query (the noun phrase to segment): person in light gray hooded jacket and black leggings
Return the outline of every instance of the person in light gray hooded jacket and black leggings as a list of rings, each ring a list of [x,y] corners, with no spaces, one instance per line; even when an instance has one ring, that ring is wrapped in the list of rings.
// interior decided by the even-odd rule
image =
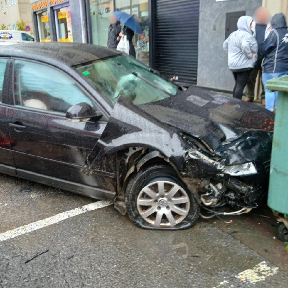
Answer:
[[[242,99],[243,90],[250,73],[258,59],[258,44],[252,36],[253,18],[242,16],[237,22],[238,30],[231,33],[223,43],[223,49],[228,52],[229,69],[233,72],[235,86],[233,97]]]

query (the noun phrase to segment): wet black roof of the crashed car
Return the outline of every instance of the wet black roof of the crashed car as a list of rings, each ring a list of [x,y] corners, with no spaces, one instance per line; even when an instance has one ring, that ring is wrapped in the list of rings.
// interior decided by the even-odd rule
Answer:
[[[69,66],[120,55],[116,49],[92,44],[65,42],[20,43],[2,46],[0,57],[21,57],[55,64],[59,61]]]

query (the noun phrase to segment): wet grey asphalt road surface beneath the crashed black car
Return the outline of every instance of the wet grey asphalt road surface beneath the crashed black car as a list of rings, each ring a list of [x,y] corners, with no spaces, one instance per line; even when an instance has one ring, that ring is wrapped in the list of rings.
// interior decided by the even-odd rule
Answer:
[[[93,202],[0,174],[0,233]],[[287,288],[288,253],[273,238],[276,219],[267,207],[253,212],[223,218],[232,223],[199,219],[188,230],[150,231],[113,206],[89,211],[0,242],[0,287]],[[263,261],[277,272],[254,283],[238,277]]]

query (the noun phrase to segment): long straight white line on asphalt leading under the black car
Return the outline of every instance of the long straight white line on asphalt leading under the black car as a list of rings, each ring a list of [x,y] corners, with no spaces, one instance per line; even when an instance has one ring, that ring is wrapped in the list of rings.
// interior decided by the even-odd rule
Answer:
[[[30,223],[28,225],[18,227],[16,229],[6,231],[6,232],[0,234],[0,242],[14,238],[14,237],[19,236],[19,235],[29,233],[29,232],[37,230],[37,229],[41,229],[43,227],[55,224],[57,222],[60,222],[62,220],[74,217],[74,216],[82,214],[82,213],[85,213],[87,211],[99,209],[99,208],[102,208],[102,207],[105,207],[105,206],[108,206],[111,204],[112,204],[111,201],[103,201],[103,200],[97,201],[97,202],[94,202],[94,203],[91,203],[88,205],[84,205],[84,206],[82,206],[82,208],[78,207],[76,209],[62,212],[62,213],[59,213],[57,215],[48,217],[46,219],[39,220],[39,221]]]

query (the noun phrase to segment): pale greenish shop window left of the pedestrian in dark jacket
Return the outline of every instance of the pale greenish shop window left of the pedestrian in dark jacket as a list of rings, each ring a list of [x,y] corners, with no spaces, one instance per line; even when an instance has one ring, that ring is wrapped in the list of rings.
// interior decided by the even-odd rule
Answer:
[[[130,1],[130,0],[129,0]],[[92,43],[107,46],[109,16],[114,11],[112,0],[89,0]]]

